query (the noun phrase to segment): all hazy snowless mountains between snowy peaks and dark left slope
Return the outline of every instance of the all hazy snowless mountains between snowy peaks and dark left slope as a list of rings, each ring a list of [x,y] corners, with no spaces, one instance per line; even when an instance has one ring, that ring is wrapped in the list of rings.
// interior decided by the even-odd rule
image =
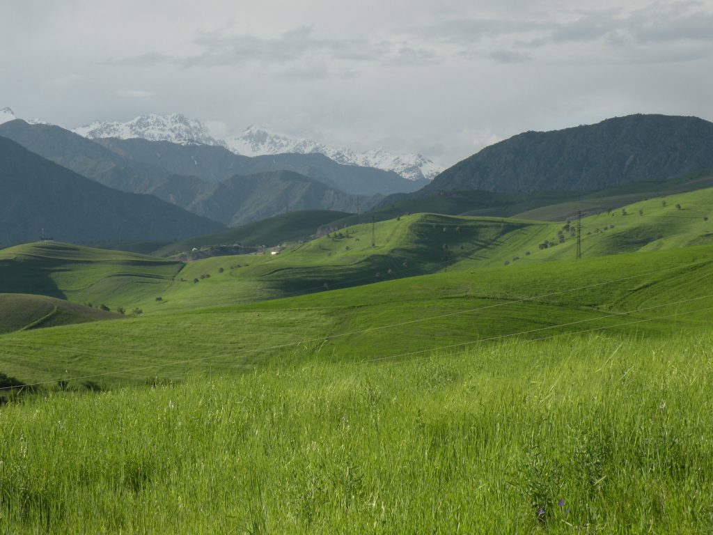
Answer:
[[[0,125],[0,136],[111,188],[150,193],[227,225],[292,210],[364,211],[381,199],[380,195],[344,193],[326,183],[332,175],[337,181],[363,179],[366,185],[374,173],[407,182],[396,173],[339,165],[321,154],[248,158],[201,144],[116,138],[91,141],[58,126],[21,120]]]

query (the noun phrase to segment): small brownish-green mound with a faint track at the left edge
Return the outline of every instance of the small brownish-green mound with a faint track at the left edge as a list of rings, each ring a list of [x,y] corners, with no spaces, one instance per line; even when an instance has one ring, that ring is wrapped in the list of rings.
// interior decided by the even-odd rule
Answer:
[[[118,317],[118,314],[44,295],[0,294],[0,334]]]

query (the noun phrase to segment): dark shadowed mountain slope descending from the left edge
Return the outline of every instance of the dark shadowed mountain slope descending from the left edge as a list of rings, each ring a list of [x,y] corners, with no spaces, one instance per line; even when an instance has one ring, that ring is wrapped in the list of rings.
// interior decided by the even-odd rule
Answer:
[[[113,190],[0,137],[0,242],[186,238],[220,223],[152,195]]]

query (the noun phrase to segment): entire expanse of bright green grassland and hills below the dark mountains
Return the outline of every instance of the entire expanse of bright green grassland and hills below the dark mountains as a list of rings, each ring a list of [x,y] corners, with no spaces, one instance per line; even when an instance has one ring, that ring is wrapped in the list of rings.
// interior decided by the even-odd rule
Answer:
[[[712,201],[0,250],[0,532],[707,533]]]

